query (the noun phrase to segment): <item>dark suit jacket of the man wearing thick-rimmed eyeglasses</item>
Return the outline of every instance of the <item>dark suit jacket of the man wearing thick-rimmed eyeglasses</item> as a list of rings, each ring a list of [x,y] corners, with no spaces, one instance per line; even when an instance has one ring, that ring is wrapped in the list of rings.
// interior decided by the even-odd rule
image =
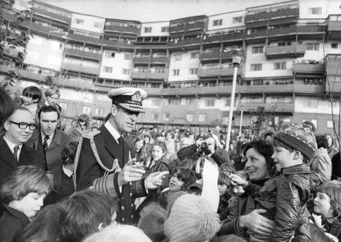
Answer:
[[[43,157],[33,148],[23,144],[21,153],[19,155],[18,163],[14,159],[13,153],[7,145],[4,137],[0,138],[0,187],[4,184],[5,180],[14,168],[20,165],[37,165],[40,168],[44,167]]]

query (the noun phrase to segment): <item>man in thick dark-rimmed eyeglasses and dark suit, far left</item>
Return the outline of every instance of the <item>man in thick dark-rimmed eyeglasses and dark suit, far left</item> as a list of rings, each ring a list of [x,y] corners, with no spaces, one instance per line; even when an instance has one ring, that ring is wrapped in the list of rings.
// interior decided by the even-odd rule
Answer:
[[[43,168],[43,157],[26,145],[36,124],[31,112],[18,107],[4,123],[5,135],[0,137],[0,187],[14,168],[37,165]]]

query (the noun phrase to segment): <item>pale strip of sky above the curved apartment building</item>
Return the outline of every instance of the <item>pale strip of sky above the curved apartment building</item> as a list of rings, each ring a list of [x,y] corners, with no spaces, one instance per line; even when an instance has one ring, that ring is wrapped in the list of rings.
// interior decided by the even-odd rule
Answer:
[[[197,15],[214,15],[274,4],[281,0],[40,0],[45,3],[103,18],[141,22],[170,21]]]

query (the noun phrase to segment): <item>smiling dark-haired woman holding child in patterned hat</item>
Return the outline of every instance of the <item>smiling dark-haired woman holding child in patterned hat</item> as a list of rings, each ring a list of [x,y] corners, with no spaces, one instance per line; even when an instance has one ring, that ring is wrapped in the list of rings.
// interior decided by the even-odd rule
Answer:
[[[249,182],[262,187],[264,182],[276,173],[276,167],[271,155],[274,148],[264,141],[252,141],[245,145],[243,154],[247,159],[245,170]],[[237,233],[239,236],[249,237],[246,233],[269,236],[274,229],[274,221],[261,216],[266,211],[255,209],[254,199],[251,198],[252,191],[237,197],[231,205],[227,219],[222,225],[221,235]]]

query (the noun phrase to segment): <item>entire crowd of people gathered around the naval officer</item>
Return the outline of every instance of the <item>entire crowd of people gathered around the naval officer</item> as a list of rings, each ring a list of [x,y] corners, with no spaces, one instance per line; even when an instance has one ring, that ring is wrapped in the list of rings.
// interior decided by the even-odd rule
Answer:
[[[59,97],[0,88],[0,241],[341,240],[340,151],[313,123],[229,144],[219,130],[133,136],[144,90],[109,92],[101,127],[60,126]]]

